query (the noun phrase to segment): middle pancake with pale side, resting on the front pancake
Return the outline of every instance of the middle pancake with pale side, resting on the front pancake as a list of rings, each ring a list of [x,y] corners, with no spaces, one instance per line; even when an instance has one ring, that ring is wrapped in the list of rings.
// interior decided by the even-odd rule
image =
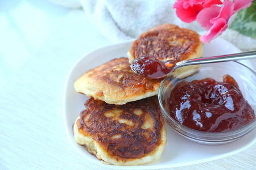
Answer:
[[[108,104],[125,104],[157,95],[160,80],[133,73],[128,60],[127,57],[115,58],[86,71],[76,80],[75,90]]]

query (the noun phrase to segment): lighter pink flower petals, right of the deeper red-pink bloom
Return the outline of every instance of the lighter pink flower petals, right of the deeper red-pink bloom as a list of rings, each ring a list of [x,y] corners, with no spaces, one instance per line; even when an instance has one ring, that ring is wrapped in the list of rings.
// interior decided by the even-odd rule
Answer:
[[[223,5],[204,8],[197,15],[196,21],[207,32],[200,37],[203,43],[220,36],[228,28],[229,18],[242,8],[249,7],[253,0],[224,0]]]

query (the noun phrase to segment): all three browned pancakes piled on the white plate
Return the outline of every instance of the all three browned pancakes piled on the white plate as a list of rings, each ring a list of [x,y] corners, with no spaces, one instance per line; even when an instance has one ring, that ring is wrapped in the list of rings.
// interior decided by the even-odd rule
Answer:
[[[130,63],[144,54],[179,62],[202,53],[196,32],[164,24],[142,33],[128,57],[86,71],[75,82],[76,91],[90,97],[73,126],[75,141],[106,164],[140,165],[159,160],[166,146],[156,96],[160,80],[133,73]]]

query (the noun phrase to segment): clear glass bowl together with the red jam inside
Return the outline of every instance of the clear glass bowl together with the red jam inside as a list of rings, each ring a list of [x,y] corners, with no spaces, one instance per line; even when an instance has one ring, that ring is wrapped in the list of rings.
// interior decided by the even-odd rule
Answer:
[[[256,73],[239,62],[204,64],[168,75],[159,88],[164,120],[192,141],[236,141],[256,126]]]

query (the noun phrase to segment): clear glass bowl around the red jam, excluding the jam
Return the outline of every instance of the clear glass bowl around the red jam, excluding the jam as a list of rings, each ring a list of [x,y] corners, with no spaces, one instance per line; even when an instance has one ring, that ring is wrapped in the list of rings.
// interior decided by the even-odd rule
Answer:
[[[189,66],[186,66],[189,67]],[[175,70],[176,71],[176,70]],[[174,73],[175,73],[174,71]],[[256,111],[256,73],[249,67],[239,62],[221,62],[197,65],[187,71],[178,71],[179,74],[170,74],[164,79],[159,88],[158,98],[160,109],[163,114],[164,120],[171,126],[177,133],[183,135],[183,137],[190,139],[197,143],[203,143],[207,145],[219,145],[236,141],[246,135],[256,126],[256,118],[249,124],[242,126],[240,129],[227,131],[227,132],[204,132],[194,130],[181,125],[168,113],[168,93],[173,87],[182,80],[191,82],[192,80],[201,80],[204,78],[212,78],[218,82],[223,82],[222,76],[229,74],[232,76],[240,90],[243,97],[248,101],[251,107]]]

